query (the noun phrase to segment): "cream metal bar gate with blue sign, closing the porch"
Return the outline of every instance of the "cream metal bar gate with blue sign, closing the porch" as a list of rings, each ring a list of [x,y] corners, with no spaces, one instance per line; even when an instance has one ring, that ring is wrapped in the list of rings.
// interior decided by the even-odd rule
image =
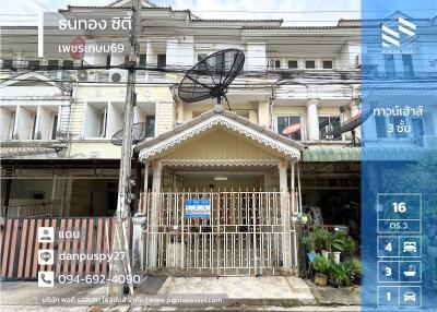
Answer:
[[[296,259],[288,193],[149,193],[144,200],[149,272],[274,275],[284,273],[284,255]],[[210,217],[187,218],[187,200],[208,200]]]

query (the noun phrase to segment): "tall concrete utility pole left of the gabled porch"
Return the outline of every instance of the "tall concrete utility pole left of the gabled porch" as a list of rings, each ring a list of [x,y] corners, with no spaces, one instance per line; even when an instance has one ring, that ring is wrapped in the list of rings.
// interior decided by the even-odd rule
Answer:
[[[130,264],[129,243],[127,238],[127,223],[130,217],[131,202],[131,161],[132,161],[132,122],[133,107],[137,101],[135,94],[135,67],[140,56],[140,19],[141,19],[141,0],[137,0],[135,7],[132,9],[132,28],[130,36],[131,51],[129,62],[126,64],[128,69],[128,82],[126,91],[126,107],[123,120],[123,137],[121,144],[120,173],[118,181],[118,201],[116,215],[116,230],[113,238],[113,253],[125,252],[125,259],[113,260],[110,263],[109,278],[119,280],[119,276],[132,274]],[[113,257],[114,259],[114,257]],[[123,278],[126,280],[126,278]],[[121,298],[123,296],[125,285],[109,280],[107,295],[109,297]],[[132,293],[133,287],[130,285]]]

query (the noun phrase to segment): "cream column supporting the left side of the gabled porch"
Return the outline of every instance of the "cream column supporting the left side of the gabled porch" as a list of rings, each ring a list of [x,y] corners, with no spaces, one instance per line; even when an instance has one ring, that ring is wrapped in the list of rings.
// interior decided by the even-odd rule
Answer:
[[[157,226],[160,209],[160,193],[163,166],[161,161],[153,163],[152,208],[149,215],[149,267],[156,267],[157,262]]]

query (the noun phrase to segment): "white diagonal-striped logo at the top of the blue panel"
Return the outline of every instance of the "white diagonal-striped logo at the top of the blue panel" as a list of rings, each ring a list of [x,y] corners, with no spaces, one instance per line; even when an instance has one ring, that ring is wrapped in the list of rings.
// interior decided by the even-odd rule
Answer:
[[[416,25],[405,19],[398,17],[398,20],[390,21],[382,25],[382,47],[408,45],[416,36],[415,31]]]

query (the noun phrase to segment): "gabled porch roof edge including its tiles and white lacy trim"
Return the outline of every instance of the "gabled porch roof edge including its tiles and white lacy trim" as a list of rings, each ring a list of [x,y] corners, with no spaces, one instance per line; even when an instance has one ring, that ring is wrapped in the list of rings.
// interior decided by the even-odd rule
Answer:
[[[277,155],[277,158],[297,161],[300,160],[304,149],[303,144],[255,124],[234,112],[209,111],[172,131],[144,141],[135,147],[135,152],[139,153],[143,163],[154,160],[161,155],[185,145],[187,141],[213,130],[224,130],[238,135],[241,137],[241,142],[249,142],[257,147],[262,147],[269,153]],[[223,158],[223,160],[225,159],[226,157]]]

